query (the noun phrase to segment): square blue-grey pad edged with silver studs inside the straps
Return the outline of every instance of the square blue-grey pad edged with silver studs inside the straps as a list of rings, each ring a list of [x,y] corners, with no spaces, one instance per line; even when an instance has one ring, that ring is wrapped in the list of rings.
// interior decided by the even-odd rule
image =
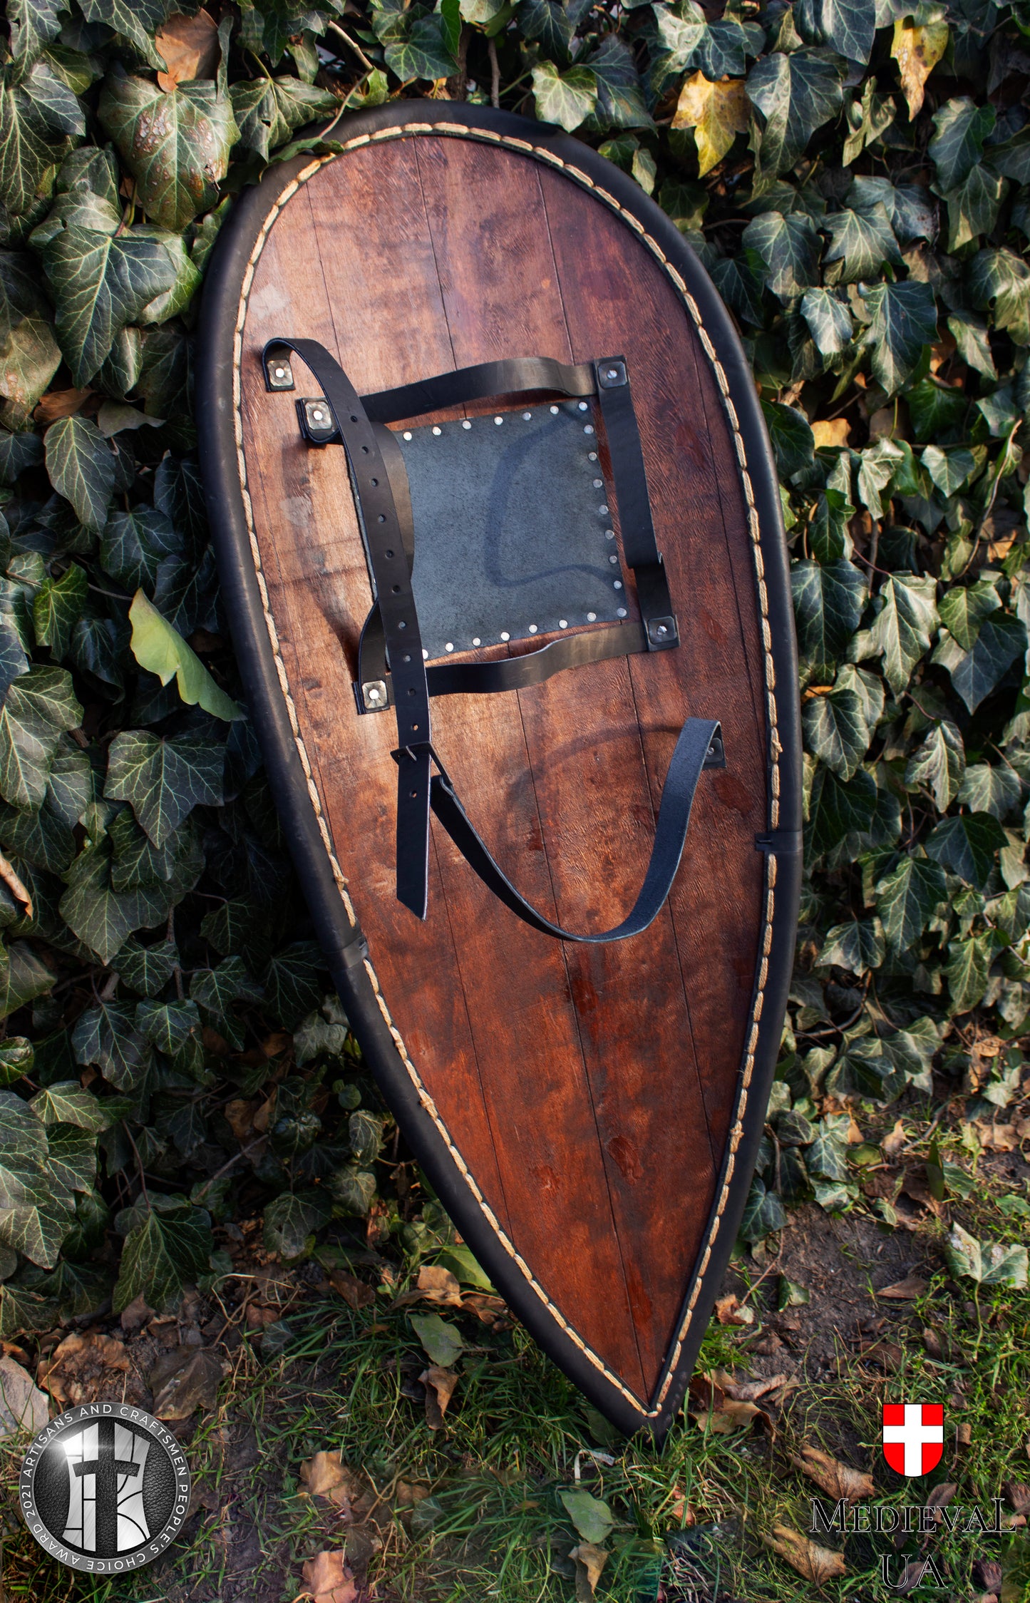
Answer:
[[[626,616],[586,401],[396,434],[428,657]]]

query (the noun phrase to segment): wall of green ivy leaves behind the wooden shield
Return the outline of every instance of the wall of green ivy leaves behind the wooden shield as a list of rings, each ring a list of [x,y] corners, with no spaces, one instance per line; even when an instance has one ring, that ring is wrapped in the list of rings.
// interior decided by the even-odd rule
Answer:
[[[716,13],[8,0],[0,1334],[106,1297],[168,1306],[224,1266],[216,1231],[237,1217],[263,1213],[266,1249],[295,1258],[384,1193],[376,1217],[408,1250],[447,1239],[436,1204],[413,1215],[392,1193],[389,1124],[325,995],[226,643],[191,396],[234,194],[397,95],[493,101],[596,144],[700,255],[754,369],[793,556],[807,829],[745,1238],[785,1204],[855,1205],[849,1106],[926,1096],[934,1074],[960,1090],[977,1036],[1003,1050],[964,1087],[974,1112],[1016,1095],[1030,10]]]

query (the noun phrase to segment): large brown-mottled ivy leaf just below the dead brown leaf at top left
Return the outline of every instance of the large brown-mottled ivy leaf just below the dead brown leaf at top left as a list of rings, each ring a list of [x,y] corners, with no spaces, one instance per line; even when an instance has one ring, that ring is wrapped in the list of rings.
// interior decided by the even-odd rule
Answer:
[[[98,115],[136,180],[144,212],[162,228],[179,232],[216,204],[239,128],[229,96],[215,83],[194,79],[165,93],[112,67]]]

